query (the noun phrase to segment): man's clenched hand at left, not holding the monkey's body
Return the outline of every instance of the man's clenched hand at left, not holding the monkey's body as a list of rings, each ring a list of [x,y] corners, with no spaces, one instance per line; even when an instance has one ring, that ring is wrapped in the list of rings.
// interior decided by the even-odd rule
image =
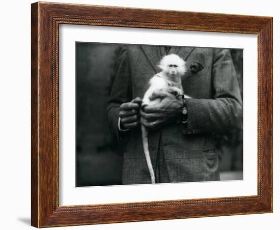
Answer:
[[[121,129],[133,129],[139,125],[139,108],[142,100],[135,98],[130,102],[120,106],[119,117],[121,119]]]

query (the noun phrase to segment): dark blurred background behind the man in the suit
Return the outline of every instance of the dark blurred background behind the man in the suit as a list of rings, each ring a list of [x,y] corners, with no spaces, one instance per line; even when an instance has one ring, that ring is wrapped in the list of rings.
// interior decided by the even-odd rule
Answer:
[[[122,148],[106,124],[120,44],[76,42],[76,186],[120,185]],[[243,50],[231,49],[243,99]],[[243,179],[243,130],[218,137],[220,179]]]

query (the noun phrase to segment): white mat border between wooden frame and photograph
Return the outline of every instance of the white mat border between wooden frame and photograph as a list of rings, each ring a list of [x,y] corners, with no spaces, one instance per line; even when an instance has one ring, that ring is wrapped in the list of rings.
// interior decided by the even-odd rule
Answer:
[[[257,195],[257,35],[60,25],[60,206]],[[244,49],[243,180],[75,187],[75,42]]]

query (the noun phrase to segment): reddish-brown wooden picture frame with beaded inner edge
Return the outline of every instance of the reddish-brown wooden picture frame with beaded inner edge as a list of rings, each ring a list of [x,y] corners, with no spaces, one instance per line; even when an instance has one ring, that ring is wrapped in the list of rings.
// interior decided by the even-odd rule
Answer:
[[[32,225],[36,227],[272,212],[272,18],[74,4],[32,4]],[[258,35],[256,196],[59,206],[59,25]]]

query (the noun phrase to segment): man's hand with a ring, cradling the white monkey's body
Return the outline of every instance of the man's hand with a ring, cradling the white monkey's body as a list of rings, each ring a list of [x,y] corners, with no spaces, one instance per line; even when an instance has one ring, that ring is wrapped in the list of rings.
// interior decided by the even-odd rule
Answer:
[[[160,99],[154,105],[147,105],[140,111],[141,124],[148,130],[158,129],[179,119],[183,101],[167,91],[157,90],[149,98],[151,101]]]

